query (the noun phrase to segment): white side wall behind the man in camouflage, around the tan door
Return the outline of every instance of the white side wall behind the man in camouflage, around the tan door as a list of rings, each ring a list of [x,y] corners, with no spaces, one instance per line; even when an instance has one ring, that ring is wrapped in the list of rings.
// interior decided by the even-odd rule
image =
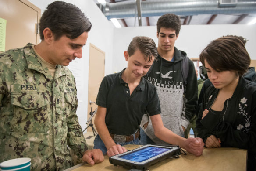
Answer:
[[[47,5],[55,0],[29,0],[43,11]],[[113,25],[102,14],[99,7],[93,0],[63,0],[68,3],[75,4],[79,7],[89,18],[92,23],[92,29],[89,31],[89,36],[86,45],[82,49],[82,59],[76,59],[77,62],[71,62],[69,68],[79,66],[81,74],[75,79],[81,80],[78,86],[78,121],[84,129],[87,121],[87,104],[88,104],[88,75],[89,75],[89,44],[92,43],[97,48],[100,48],[106,53],[105,56],[105,75],[112,73],[112,56],[113,56]],[[73,63],[73,64],[72,64]],[[74,66],[76,65],[76,66]],[[71,69],[72,71],[72,69]]]

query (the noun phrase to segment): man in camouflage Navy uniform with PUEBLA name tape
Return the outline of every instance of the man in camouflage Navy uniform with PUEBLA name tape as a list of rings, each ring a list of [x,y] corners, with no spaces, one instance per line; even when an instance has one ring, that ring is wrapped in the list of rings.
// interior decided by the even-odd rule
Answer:
[[[64,170],[67,145],[89,164],[104,160],[88,150],[78,117],[75,79],[68,68],[82,58],[91,23],[70,3],[51,3],[40,20],[41,43],[0,54],[0,162],[30,157],[32,170]]]

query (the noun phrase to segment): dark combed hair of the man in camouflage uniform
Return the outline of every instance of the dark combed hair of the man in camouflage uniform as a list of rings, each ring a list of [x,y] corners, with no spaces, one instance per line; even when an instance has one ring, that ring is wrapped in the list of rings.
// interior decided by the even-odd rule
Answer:
[[[55,1],[48,5],[40,19],[39,31],[42,40],[44,40],[43,30],[47,27],[53,32],[54,40],[58,40],[62,35],[74,39],[84,32],[89,32],[92,24],[75,5]]]

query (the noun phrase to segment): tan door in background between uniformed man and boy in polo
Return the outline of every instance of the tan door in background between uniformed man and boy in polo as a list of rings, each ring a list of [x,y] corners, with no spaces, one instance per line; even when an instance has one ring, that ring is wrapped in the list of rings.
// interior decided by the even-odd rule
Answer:
[[[90,57],[89,57],[89,86],[88,86],[88,114],[97,108],[95,104],[97,94],[99,92],[100,83],[104,77],[105,71],[105,52],[90,43]],[[91,102],[91,103],[90,103]],[[95,116],[94,116],[95,117]],[[94,117],[92,123],[94,124]],[[95,126],[93,126],[95,128]],[[92,131],[91,127],[87,131]]]

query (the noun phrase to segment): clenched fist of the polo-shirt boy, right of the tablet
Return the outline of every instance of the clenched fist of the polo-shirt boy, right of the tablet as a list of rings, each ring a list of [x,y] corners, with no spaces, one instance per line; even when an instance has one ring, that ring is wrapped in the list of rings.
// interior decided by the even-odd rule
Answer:
[[[203,154],[203,140],[202,138],[188,138],[184,141],[183,147],[186,151],[196,156]]]

